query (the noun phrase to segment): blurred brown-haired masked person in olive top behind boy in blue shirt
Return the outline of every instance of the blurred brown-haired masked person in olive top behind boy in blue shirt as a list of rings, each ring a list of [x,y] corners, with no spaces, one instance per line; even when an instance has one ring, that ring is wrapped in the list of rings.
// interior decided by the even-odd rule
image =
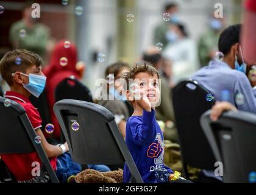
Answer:
[[[126,120],[129,117],[129,110],[126,101],[126,94],[122,94],[121,79],[123,71],[129,69],[129,65],[123,62],[116,62],[108,66],[105,70],[105,77],[107,79],[108,98],[97,101],[99,105],[107,108],[115,116],[116,124],[123,136],[126,137]]]

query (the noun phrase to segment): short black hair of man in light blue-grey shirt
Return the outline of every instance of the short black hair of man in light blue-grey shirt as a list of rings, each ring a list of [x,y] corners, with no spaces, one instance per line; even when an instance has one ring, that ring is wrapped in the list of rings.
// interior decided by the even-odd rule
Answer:
[[[224,55],[229,54],[230,49],[236,43],[240,43],[241,24],[229,26],[219,36],[218,48]]]

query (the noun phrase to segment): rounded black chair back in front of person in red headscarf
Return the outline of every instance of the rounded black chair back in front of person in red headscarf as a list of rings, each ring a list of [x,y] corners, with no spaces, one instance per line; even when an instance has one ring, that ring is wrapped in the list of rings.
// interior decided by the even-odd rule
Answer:
[[[77,99],[93,102],[90,90],[74,76],[63,79],[55,88],[55,102],[62,99]]]

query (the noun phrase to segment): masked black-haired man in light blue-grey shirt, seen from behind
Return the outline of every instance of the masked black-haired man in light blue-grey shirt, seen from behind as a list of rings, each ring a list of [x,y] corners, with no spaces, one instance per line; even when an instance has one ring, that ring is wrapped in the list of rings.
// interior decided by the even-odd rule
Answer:
[[[227,27],[219,37],[219,59],[210,61],[191,79],[210,91],[216,101],[228,101],[238,110],[256,113],[256,90],[246,76],[253,64],[243,60],[240,34],[241,24]]]

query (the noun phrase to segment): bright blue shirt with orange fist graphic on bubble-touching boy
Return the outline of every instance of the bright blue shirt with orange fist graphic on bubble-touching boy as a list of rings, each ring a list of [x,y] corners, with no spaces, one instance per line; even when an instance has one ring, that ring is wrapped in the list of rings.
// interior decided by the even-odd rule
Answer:
[[[164,167],[173,173],[163,165],[165,146],[162,130],[155,120],[155,110],[143,110],[143,116],[131,116],[127,119],[126,144],[144,182],[155,182],[155,168]],[[130,181],[130,176],[129,168],[125,164],[124,183]]]

